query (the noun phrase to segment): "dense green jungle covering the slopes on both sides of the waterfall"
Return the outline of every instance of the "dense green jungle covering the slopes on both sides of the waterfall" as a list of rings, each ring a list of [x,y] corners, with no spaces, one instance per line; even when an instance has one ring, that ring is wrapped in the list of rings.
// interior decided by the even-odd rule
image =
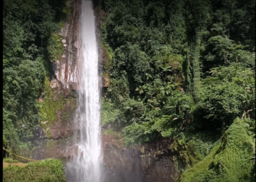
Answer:
[[[255,1],[93,2],[102,124],[127,146],[172,139],[179,181],[255,181]],[[64,0],[3,1],[3,146],[14,153],[33,147],[70,11]]]

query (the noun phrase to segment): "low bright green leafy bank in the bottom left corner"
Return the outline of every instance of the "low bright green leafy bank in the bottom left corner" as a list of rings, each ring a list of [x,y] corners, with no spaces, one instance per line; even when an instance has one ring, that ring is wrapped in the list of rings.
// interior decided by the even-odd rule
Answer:
[[[28,163],[24,167],[12,166],[3,169],[3,181],[66,182],[64,166],[60,160],[45,159]]]

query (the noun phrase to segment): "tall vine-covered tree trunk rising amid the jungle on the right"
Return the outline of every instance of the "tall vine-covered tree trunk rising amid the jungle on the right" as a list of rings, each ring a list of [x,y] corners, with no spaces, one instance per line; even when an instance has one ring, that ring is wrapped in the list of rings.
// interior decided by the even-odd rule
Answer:
[[[208,15],[208,1],[187,1],[185,13],[188,55],[185,62],[186,91],[193,94],[195,102],[201,100],[200,93],[200,40],[201,27]]]

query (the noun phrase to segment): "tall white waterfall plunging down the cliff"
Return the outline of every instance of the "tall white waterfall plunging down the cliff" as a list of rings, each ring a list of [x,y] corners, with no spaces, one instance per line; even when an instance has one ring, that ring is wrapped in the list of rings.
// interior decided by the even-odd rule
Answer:
[[[98,51],[92,1],[82,0],[81,7],[82,68],[78,88],[79,104],[75,121],[78,154],[66,164],[72,182],[99,182],[101,177],[101,124]],[[72,177],[70,177],[70,175]],[[68,178],[68,177],[67,177]]]

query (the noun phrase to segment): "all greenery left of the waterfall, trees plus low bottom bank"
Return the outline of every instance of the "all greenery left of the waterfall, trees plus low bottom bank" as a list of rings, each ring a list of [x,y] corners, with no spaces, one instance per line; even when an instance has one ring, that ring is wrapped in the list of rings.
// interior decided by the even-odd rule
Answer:
[[[64,0],[3,1],[3,147],[23,157],[31,158],[42,120],[44,103],[38,98],[44,94],[50,102],[44,90],[53,78],[51,60],[63,51],[56,34],[69,11]],[[3,150],[3,157],[8,155]],[[3,181],[24,180],[66,181],[64,166],[46,159],[3,169]]]

